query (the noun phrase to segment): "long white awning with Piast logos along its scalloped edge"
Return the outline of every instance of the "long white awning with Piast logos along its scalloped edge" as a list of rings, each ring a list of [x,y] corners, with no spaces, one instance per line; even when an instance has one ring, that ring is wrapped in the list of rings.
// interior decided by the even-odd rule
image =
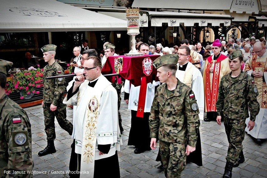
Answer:
[[[162,26],[162,23],[168,23],[169,27],[180,26],[180,23],[183,23],[184,26],[194,26],[194,23],[198,23],[199,26],[207,26],[208,23],[211,23],[212,26],[220,26],[221,23],[228,26],[231,24],[231,19],[233,19],[231,15],[221,14],[154,11],[148,11],[147,13],[151,19],[151,26]]]

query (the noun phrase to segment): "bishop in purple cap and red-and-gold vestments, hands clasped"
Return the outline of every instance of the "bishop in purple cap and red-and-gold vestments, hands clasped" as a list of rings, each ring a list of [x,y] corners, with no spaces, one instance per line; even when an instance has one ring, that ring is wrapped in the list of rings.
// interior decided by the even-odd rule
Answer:
[[[207,118],[204,121],[215,121],[217,118],[216,101],[218,97],[218,88],[222,76],[228,74],[231,70],[228,64],[228,57],[220,53],[222,44],[219,39],[212,43],[212,52],[214,55],[205,61],[203,82],[205,94],[205,111]]]

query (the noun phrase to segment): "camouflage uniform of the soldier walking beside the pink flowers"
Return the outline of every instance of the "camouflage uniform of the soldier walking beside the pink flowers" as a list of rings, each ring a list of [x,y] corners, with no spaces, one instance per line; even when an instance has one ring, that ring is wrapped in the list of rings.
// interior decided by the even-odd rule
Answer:
[[[64,70],[57,63],[54,62],[52,65],[46,65],[44,67],[44,125],[47,140],[55,140],[55,117],[61,128],[66,130],[70,135],[72,134],[73,125],[66,119],[66,105],[63,104],[64,91],[65,91],[65,79],[46,79],[48,76],[60,76],[64,75]],[[52,112],[50,105],[57,106],[57,109]]]

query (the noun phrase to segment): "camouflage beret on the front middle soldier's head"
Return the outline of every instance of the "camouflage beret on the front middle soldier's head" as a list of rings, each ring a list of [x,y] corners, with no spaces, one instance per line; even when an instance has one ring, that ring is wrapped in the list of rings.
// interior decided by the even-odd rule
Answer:
[[[153,61],[153,66],[158,69],[163,65],[177,64],[178,59],[179,56],[175,54],[162,55]]]

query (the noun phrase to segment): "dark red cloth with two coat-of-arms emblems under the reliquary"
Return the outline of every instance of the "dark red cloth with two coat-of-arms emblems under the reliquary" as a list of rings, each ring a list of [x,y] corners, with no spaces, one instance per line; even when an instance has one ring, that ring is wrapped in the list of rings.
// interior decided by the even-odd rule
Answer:
[[[107,58],[105,65],[102,68],[102,74],[119,73],[121,77],[127,79],[134,86],[141,85],[141,78],[146,77],[146,82],[153,80],[159,81],[157,70],[152,66],[152,61],[160,57],[160,55],[142,55],[142,56],[110,56]],[[107,77],[114,83],[115,77]]]

